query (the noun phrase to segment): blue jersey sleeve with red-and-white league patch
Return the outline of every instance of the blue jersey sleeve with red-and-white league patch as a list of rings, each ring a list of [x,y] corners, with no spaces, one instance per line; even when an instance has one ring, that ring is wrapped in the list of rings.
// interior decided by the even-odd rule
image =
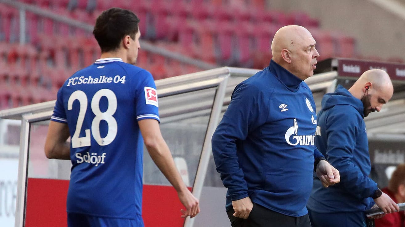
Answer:
[[[152,74],[146,70],[139,72],[138,78],[143,78],[135,98],[136,120],[156,119],[160,122],[158,111],[158,93]]]

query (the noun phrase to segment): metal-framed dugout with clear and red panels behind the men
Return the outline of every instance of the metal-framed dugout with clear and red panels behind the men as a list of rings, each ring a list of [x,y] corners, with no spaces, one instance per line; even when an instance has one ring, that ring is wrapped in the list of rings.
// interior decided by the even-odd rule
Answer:
[[[215,171],[211,136],[230,102],[234,87],[256,72],[258,70],[223,67],[156,81],[162,134],[184,181],[200,199],[202,212],[196,218],[185,221],[179,217],[181,204],[177,201],[177,194],[145,151],[145,226],[229,225],[224,210],[226,188]],[[341,77],[339,70],[334,68],[308,78],[306,83],[313,92],[316,109],[320,110],[323,95],[334,91],[337,83],[349,85],[355,79]],[[386,146],[390,146],[389,143],[393,141],[393,144],[400,146],[398,152],[401,155],[405,153],[405,136],[401,131],[405,128],[402,126],[405,125],[405,119],[400,116],[404,116],[405,102],[403,96],[395,95],[395,100],[384,108],[388,112],[395,110],[394,118],[400,120],[392,124],[393,127],[398,126],[395,129],[398,132],[396,137],[393,138],[387,131],[380,132],[382,126],[373,125],[373,121],[367,120],[366,125],[371,142],[377,141],[376,144],[381,146],[381,141],[384,141],[384,144],[388,144]],[[38,223],[44,227],[66,226],[66,193],[71,164],[70,161],[47,159],[43,153],[54,104],[55,101],[50,101],[0,111],[2,119],[21,120],[15,227],[31,227]],[[370,119],[381,117],[374,117],[377,115],[388,118],[385,113],[380,112],[371,114]],[[387,125],[389,122],[385,122],[383,126]],[[389,154],[384,151],[380,153],[384,157]],[[397,162],[398,160],[394,160],[384,164],[394,165]]]

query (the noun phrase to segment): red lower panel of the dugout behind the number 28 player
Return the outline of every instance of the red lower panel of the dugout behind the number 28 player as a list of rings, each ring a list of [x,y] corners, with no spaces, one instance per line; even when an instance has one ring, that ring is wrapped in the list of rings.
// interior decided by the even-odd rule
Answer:
[[[25,227],[67,227],[69,180],[28,178]],[[145,227],[182,227],[183,205],[171,186],[144,185],[142,216]]]

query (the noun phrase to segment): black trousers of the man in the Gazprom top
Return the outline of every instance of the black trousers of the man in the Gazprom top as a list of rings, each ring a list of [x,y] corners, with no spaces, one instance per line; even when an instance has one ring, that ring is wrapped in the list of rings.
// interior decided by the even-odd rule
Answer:
[[[308,214],[292,217],[258,204],[253,204],[253,209],[247,219],[234,217],[233,213],[233,209],[228,211],[228,218],[232,227],[311,227]]]

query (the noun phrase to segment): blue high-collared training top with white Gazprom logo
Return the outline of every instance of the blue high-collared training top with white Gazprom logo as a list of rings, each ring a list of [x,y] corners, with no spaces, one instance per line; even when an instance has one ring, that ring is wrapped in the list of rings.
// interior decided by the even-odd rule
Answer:
[[[315,103],[305,82],[277,63],[236,86],[212,138],[217,171],[232,201],[288,216],[307,214],[315,157]]]

